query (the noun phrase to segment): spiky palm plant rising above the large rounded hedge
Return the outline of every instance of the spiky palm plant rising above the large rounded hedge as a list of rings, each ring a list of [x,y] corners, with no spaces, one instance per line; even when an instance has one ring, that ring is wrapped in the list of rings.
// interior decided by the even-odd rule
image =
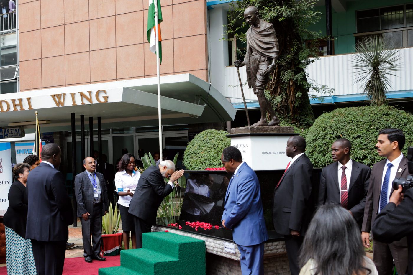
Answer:
[[[387,104],[386,92],[390,85],[389,76],[400,70],[398,49],[394,49],[382,37],[366,38],[356,46],[356,54],[351,62],[356,73],[354,84],[360,83],[367,93],[371,105]]]

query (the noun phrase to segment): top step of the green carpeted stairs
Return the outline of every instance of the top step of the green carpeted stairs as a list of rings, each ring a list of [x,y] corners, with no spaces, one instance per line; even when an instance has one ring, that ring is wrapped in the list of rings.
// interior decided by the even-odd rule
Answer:
[[[205,242],[171,232],[150,232],[142,235],[142,247],[167,254],[183,261],[205,260]]]

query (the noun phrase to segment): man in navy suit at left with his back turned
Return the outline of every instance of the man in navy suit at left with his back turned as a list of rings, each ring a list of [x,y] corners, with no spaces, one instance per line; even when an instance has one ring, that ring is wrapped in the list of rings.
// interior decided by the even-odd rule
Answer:
[[[38,275],[62,274],[68,225],[73,223],[73,209],[64,185],[62,151],[47,143],[42,162],[27,178],[28,213],[26,238],[31,239]]]

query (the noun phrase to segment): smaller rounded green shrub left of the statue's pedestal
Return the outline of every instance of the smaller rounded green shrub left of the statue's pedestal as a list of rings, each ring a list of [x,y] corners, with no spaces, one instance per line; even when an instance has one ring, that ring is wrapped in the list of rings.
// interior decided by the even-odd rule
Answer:
[[[183,164],[188,170],[204,170],[209,167],[222,167],[221,154],[231,145],[226,131],[204,130],[197,134],[186,147]]]

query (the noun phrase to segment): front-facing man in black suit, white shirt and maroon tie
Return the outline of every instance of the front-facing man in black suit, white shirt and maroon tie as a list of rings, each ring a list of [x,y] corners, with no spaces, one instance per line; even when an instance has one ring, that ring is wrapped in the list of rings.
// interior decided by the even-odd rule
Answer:
[[[351,143],[340,138],[331,145],[333,164],[321,171],[318,205],[341,204],[361,228],[370,167],[350,158]]]

